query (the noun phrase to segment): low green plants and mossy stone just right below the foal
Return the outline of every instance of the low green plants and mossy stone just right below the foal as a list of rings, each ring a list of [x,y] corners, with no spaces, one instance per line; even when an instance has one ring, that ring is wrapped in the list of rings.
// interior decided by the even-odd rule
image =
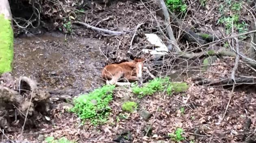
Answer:
[[[143,98],[146,95],[153,95],[157,91],[164,91],[171,95],[173,92],[179,93],[184,90],[187,90],[189,86],[184,82],[169,82],[169,78],[155,78],[150,80],[145,86],[139,87],[137,84],[134,84],[132,87],[132,92],[138,95],[139,98]]]

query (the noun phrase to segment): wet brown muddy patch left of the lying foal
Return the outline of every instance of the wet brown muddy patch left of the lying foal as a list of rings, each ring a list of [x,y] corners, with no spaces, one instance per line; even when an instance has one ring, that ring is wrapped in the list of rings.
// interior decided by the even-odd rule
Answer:
[[[66,38],[66,40],[65,40]],[[87,93],[104,84],[100,79],[106,58],[103,41],[59,33],[15,38],[14,76],[28,76],[49,91]]]

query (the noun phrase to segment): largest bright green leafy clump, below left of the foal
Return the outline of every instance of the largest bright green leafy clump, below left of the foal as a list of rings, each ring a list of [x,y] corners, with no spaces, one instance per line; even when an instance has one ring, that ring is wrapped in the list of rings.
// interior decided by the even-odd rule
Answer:
[[[70,111],[82,120],[89,119],[94,125],[106,122],[114,88],[115,85],[104,85],[89,94],[80,95],[74,99],[74,107]]]

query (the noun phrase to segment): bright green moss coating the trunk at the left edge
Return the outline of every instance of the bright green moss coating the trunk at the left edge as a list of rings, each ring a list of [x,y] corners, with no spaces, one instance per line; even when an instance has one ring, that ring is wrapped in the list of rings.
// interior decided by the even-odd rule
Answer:
[[[0,74],[12,71],[13,29],[11,21],[0,14]]]

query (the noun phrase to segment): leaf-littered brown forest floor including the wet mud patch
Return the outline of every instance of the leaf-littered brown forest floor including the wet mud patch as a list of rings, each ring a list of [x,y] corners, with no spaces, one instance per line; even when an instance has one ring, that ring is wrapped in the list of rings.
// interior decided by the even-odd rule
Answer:
[[[102,36],[91,29],[73,25],[75,34],[72,36],[51,32],[16,37],[13,75],[33,78],[39,83],[39,88],[51,93],[53,100],[55,95],[74,97],[101,87],[104,80],[100,78],[100,74],[106,63],[128,60],[130,55],[150,57],[140,49],[149,45],[143,34],[155,32],[152,30],[155,27],[152,22],[154,17],[151,17],[148,9],[140,2],[118,2],[113,7],[104,8],[104,11],[85,11],[80,19],[95,21],[91,24],[105,29],[117,27],[116,31],[133,31],[138,23],[144,22],[145,25],[138,30],[134,40],[135,48],[130,53],[128,50],[132,35]],[[197,15],[194,19],[200,17],[202,15]],[[208,21],[208,25],[213,21],[214,19]],[[230,57],[218,59],[201,76],[211,79],[226,77],[232,71],[234,60],[235,58]],[[149,64],[145,63],[146,66],[152,61],[148,62]],[[253,72],[249,69],[247,65],[239,65],[240,71]],[[6,137],[11,140],[26,139],[31,143],[42,142],[45,137],[66,137],[84,143],[115,143],[113,139],[125,134],[127,142],[168,143],[174,142],[168,134],[174,133],[176,128],[182,128],[186,138],[184,143],[238,143],[242,142],[245,135],[255,133],[254,87],[246,91],[244,88],[232,91],[232,85],[229,88],[198,86],[191,80],[191,76],[198,74],[184,73],[174,74],[172,78],[173,81],[187,82],[189,89],[172,96],[156,93],[137,99],[124,89],[115,90],[110,103],[111,115],[104,125],[95,127],[86,122],[81,126],[76,115],[65,111],[65,107],[70,104],[65,100],[58,100],[51,103],[50,121],[39,119],[37,128],[24,130],[20,138],[22,128],[14,125],[14,132],[7,133]],[[139,103],[135,113],[122,111],[121,105],[127,100]],[[152,114],[148,120],[141,117],[144,109]],[[248,118],[252,124],[244,132]],[[151,124],[152,133],[146,137],[145,128]]]

